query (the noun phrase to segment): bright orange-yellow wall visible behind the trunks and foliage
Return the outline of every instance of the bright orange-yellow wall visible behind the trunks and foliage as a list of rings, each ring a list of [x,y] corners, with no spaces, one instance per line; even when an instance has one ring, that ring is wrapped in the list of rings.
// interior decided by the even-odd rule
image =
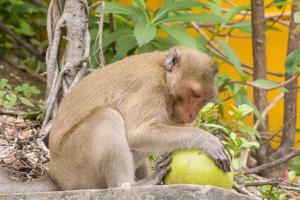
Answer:
[[[126,5],[131,5],[132,0],[117,0],[120,3],[124,3]],[[202,1],[202,0],[201,0]],[[269,4],[272,0],[265,0],[265,5]],[[203,0],[203,2],[205,2]],[[250,4],[250,0],[231,0],[231,2],[242,5],[242,4]],[[163,5],[163,0],[147,0],[146,5],[148,8],[152,10],[156,10],[157,8],[161,7]],[[224,1],[221,1],[221,6],[223,8],[231,8],[231,6]],[[290,5],[286,5],[285,13],[290,12]],[[193,10],[196,12],[196,10]],[[271,7],[265,9],[265,14],[279,14],[281,13],[282,8],[279,10],[276,7]],[[236,16],[234,20],[239,20],[240,16]],[[249,19],[247,17],[246,19]],[[289,17],[281,17],[281,19],[286,20],[289,22]],[[266,21],[267,23],[270,23],[270,21]],[[274,25],[275,27],[279,28],[280,31],[274,31],[274,30],[267,30],[265,32],[267,40],[266,41],[266,66],[267,70],[274,71],[274,72],[281,72],[284,73],[284,60],[286,57],[286,50],[287,50],[287,38],[288,38],[288,27],[276,23]],[[187,32],[190,33],[192,36],[198,36],[198,32],[194,30],[193,28],[187,28]],[[210,35],[208,32],[205,32],[208,35]],[[159,33],[161,36],[165,35],[165,33]],[[234,30],[232,34],[238,34],[238,35],[246,35],[245,33]],[[224,39],[224,38],[223,38]],[[251,38],[236,38],[236,37],[230,37],[228,44],[235,50],[238,57],[240,58],[241,62],[247,63],[252,65],[252,39]],[[230,64],[227,64],[226,62],[221,62],[220,65],[220,72],[219,73],[227,73],[229,74],[233,79],[239,79],[239,76],[235,72],[235,68],[231,66]],[[267,75],[267,78],[277,80],[277,81],[284,81],[284,77],[276,77],[273,75]],[[298,84],[300,84],[300,78],[298,78]],[[249,94],[249,99],[251,100],[253,97],[253,89],[247,88],[247,92]],[[270,102],[276,95],[278,95],[280,91],[278,90],[272,90],[268,91],[268,102]],[[220,94],[220,97],[222,97],[223,94]],[[251,100],[252,101],[252,100]],[[232,109],[230,104],[234,105],[234,100],[228,100],[225,104],[223,104],[225,117],[232,118],[228,113],[227,110]],[[297,113],[300,113],[300,97],[298,97],[297,100]],[[283,99],[281,99],[269,112],[269,129],[270,132],[275,132],[283,125]],[[253,124],[253,121],[251,120],[252,117],[247,117],[244,120],[245,124]],[[300,128],[300,120],[299,115],[297,119],[297,128]],[[279,137],[275,138],[276,140],[280,139]],[[295,141],[300,140],[300,134],[296,133]],[[276,148],[279,143],[278,142],[271,142],[272,146]],[[299,147],[300,143],[297,143],[295,147]]]

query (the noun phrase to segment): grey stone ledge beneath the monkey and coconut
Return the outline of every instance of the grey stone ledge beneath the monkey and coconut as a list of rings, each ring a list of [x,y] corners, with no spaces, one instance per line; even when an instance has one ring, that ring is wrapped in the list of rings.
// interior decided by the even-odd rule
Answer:
[[[111,189],[55,191],[27,194],[6,194],[0,195],[0,199],[246,200],[257,198],[249,197],[244,194],[239,194],[235,191],[230,191],[210,185],[177,184]]]

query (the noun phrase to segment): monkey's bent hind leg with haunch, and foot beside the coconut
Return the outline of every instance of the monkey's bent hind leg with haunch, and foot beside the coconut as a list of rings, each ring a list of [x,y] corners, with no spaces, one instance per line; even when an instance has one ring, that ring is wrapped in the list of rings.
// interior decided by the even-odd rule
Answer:
[[[69,135],[59,153],[52,154],[50,174],[63,190],[100,189],[159,184],[169,170],[167,156],[157,162],[156,172],[135,181],[133,155],[125,134],[122,116],[110,106],[90,112]],[[71,163],[71,164],[70,164]]]

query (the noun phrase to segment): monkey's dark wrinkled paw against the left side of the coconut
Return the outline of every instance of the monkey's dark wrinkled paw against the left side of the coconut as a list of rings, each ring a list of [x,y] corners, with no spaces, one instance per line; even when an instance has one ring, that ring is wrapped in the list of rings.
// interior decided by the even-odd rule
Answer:
[[[160,184],[163,176],[171,170],[171,166],[168,164],[171,162],[172,157],[169,153],[166,153],[163,155],[160,159],[158,159],[155,163],[155,172],[151,176],[152,181],[154,182],[154,185]]]

